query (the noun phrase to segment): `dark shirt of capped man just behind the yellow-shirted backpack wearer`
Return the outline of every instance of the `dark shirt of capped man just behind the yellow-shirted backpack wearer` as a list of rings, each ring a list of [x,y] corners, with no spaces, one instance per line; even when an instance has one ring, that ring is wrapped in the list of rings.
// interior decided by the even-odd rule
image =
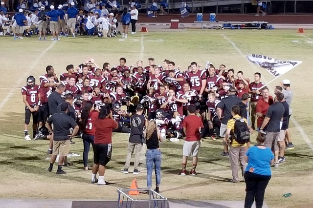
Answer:
[[[222,119],[222,124],[227,125],[229,119],[233,116],[231,115],[231,108],[234,105],[241,103],[241,99],[238,98],[236,95],[229,95],[227,98],[224,98],[218,105],[218,108],[223,110],[224,118]],[[245,117],[246,118],[246,117]]]

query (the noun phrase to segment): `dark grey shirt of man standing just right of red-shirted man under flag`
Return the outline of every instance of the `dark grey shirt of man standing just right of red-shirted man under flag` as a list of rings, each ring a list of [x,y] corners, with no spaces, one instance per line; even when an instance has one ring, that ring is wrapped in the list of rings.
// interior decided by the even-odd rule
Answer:
[[[269,105],[266,117],[270,119],[265,130],[269,132],[279,132],[280,122],[284,117],[284,113],[285,107],[281,102],[275,102],[274,104]]]

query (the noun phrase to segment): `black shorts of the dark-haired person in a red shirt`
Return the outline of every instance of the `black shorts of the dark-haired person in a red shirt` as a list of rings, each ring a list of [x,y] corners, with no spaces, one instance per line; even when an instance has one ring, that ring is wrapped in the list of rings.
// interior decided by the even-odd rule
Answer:
[[[112,155],[112,144],[94,144],[93,145],[93,163],[106,166]]]

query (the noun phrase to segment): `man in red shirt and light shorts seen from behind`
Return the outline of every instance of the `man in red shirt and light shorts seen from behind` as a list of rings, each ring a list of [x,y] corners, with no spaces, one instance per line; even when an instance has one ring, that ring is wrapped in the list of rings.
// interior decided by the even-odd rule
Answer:
[[[186,165],[188,157],[192,155],[192,169],[190,173],[196,175],[196,167],[198,164],[198,152],[201,146],[201,128],[203,127],[201,117],[196,115],[196,107],[194,105],[188,106],[188,114],[183,122],[183,131],[186,135],[183,146],[182,155],[182,169],[178,173],[186,175]]]

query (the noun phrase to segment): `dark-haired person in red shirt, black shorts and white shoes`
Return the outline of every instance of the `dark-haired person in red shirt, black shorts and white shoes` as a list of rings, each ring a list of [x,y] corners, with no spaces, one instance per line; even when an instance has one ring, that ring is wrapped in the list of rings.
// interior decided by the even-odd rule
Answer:
[[[112,110],[109,105],[101,108],[98,118],[94,122],[95,135],[93,144],[93,166],[91,183],[107,185],[104,181],[106,165],[111,160],[112,155],[112,131],[118,128],[114,121]],[[99,180],[96,178],[99,171]]]

